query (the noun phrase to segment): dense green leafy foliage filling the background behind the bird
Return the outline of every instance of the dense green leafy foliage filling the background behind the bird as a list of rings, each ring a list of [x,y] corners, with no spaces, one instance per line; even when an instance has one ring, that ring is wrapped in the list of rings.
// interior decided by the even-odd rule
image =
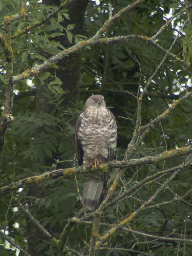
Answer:
[[[10,23],[13,75],[20,75],[65,51],[63,40],[69,47],[78,45],[80,41],[84,44],[86,38],[92,38],[111,17],[111,12],[114,17],[127,4],[132,3],[118,0],[96,4],[90,1],[84,14],[85,32],[81,35],[80,32],[74,32],[77,25],[70,24],[72,17],[67,10],[70,9],[70,3],[58,9],[56,3],[49,5],[45,1],[33,0],[25,4],[20,0],[1,1],[2,35],[5,30],[4,17],[15,17],[20,13],[19,18],[14,18]],[[120,15],[101,35],[101,39],[112,38],[111,43],[100,40],[97,44],[88,45],[85,50],[79,50],[81,56],[76,58],[81,58],[81,66],[77,84],[71,84],[71,87],[77,88],[73,98],[68,96],[65,87],[68,76],[63,80],[57,74],[61,64],[50,62],[46,70],[30,76],[30,80],[17,82],[13,87],[15,120],[6,132],[1,187],[47,172],[50,168],[67,168],[77,164],[74,155],[75,123],[91,93],[104,95],[107,106],[116,117],[117,160],[122,160],[137,127],[138,97],[156,71],[142,98],[141,126],[148,125],[176,100],[191,92],[192,13],[189,4],[179,0],[145,1]],[[187,10],[184,11],[184,8]],[[43,22],[49,15],[50,19]],[[175,18],[168,22],[174,15]],[[37,22],[40,22],[38,26],[35,25]],[[83,27],[83,19],[81,25]],[[127,40],[115,40],[116,37],[127,35],[130,36]],[[169,54],[160,66],[167,52]],[[0,104],[3,106],[7,76],[3,46],[0,47],[0,53]],[[62,66],[66,65],[67,68],[70,58],[71,55],[65,58]],[[47,111],[37,109],[39,85],[45,88],[41,97],[49,106]],[[191,145],[191,111],[191,97],[188,97],[165,115],[164,119],[148,127],[150,132],[142,140],[138,139],[140,141],[132,149],[130,158],[155,156]],[[99,244],[98,255],[192,255],[190,165],[173,178],[171,175],[174,172],[156,178],[151,176],[175,167],[185,159],[186,156],[177,156],[166,161],[122,169],[118,186],[105,205],[97,240],[104,239],[103,235],[111,230],[111,224],[113,227],[120,224],[120,228],[109,232],[108,239]],[[112,175],[117,175],[117,171],[113,170]],[[151,180],[142,183],[148,176]],[[77,181],[81,191],[83,174],[77,175]],[[165,182],[167,184],[163,186]],[[40,181],[35,188],[26,186],[22,192],[19,189],[3,195],[0,199],[0,254],[19,253],[22,256],[28,252],[33,255],[27,244],[33,231],[30,234],[26,228],[26,216],[18,206],[20,200],[22,205],[28,203],[29,212],[56,239],[60,239],[62,231],[69,225],[68,218],[78,217],[79,222],[74,222],[67,234],[65,248],[68,251],[76,250],[80,255],[88,255],[90,247],[87,244],[90,245],[91,237],[95,235],[90,222],[95,219],[93,215],[75,215],[82,208],[76,186],[73,178],[59,177]],[[33,189],[37,191],[36,196],[30,193]],[[153,196],[154,200],[147,204]],[[137,212],[138,209],[140,211]],[[134,218],[121,225],[121,221],[134,212],[137,212]],[[6,234],[9,239],[2,234]],[[17,246],[11,244],[12,241]],[[35,248],[36,255],[61,254],[50,239],[41,235]],[[71,251],[71,255],[75,255],[75,252]]]

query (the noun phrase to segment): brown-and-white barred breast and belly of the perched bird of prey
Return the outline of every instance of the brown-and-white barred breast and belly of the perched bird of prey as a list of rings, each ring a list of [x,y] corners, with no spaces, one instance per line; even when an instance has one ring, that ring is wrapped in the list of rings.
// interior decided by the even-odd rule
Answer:
[[[106,162],[109,157],[109,149],[116,149],[116,122],[107,108],[88,108],[80,116],[81,126],[77,136],[81,141],[84,152],[83,164],[89,164],[95,157],[99,161]]]

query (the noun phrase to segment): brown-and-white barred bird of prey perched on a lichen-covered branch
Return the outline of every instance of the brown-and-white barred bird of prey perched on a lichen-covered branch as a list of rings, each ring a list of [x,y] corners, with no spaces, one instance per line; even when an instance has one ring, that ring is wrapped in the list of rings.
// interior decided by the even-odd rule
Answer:
[[[92,95],[76,124],[76,153],[79,165],[111,161],[117,148],[117,125],[114,115],[106,108],[102,95]],[[100,170],[84,176],[83,204],[86,212],[95,211],[102,202],[108,173]]]

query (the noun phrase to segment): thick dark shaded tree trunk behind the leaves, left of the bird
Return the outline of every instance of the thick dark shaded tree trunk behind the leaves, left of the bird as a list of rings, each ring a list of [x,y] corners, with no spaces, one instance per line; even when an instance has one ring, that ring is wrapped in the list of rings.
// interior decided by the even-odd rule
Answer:
[[[52,5],[53,2],[50,0],[43,1],[46,5]],[[59,6],[60,1],[54,1],[56,5]],[[84,13],[86,10],[88,4],[88,0],[75,0],[71,1],[71,3],[68,4],[68,14],[70,17],[70,20],[64,20],[61,25],[63,27],[67,27],[68,24],[75,24],[75,27],[71,32],[76,34],[83,34],[83,28],[84,28]],[[78,13],[78,15],[76,15]],[[54,40],[60,41],[60,44],[62,44],[65,48],[70,47],[70,43],[67,39],[67,36],[59,36],[57,38],[54,38]],[[72,42],[74,44],[74,40]],[[42,53],[41,53],[42,55]],[[81,56],[80,54],[73,54],[70,57],[67,57],[64,60],[61,60],[57,65],[60,67],[59,69],[56,69],[56,76],[60,78],[60,80],[63,82],[61,87],[65,91],[66,94],[63,94],[64,101],[63,106],[72,106],[72,103],[78,98],[79,95],[79,76],[80,76],[80,65],[81,65]],[[50,69],[49,69],[50,72]],[[53,72],[53,71],[52,71]],[[36,84],[36,113],[44,112],[44,113],[51,113],[52,111],[52,104],[48,103],[47,98],[45,97],[44,92],[46,92],[47,86],[44,84]],[[45,132],[44,126],[40,127],[36,131],[35,138],[38,138],[42,132]],[[36,163],[38,164],[38,163]],[[48,157],[44,157],[44,165],[52,165],[52,159]],[[38,164],[40,166],[40,164]],[[28,196],[34,196],[34,197],[43,197],[45,195],[46,191],[43,191],[36,185],[33,185],[30,187],[28,191]],[[33,202],[31,202],[30,209],[35,210],[36,206],[33,206]],[[28,253],[31,256],[42,256],[42,250],[40,253],[37,252],[36,246],[42,242],[44,237],[41,237],[42,240],[39,240],[40,234],[38,231],[36,231],[36,228],[34,227],[31,222],[26,219],[26,228],[27,228],[27,240],[28,240]],[[37,238],[38,237],[38,238]]]

